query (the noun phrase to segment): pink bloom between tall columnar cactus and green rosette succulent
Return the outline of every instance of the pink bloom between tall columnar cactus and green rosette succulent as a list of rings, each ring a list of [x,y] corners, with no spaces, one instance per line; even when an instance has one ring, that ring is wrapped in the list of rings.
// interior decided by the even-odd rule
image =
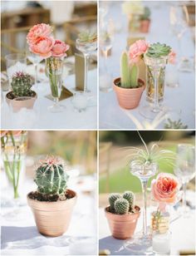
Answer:
[[[137,63],[143,54],[148,50],[149,44],[145,40],[138,40],[130,46],[129,57],[130,62]]]

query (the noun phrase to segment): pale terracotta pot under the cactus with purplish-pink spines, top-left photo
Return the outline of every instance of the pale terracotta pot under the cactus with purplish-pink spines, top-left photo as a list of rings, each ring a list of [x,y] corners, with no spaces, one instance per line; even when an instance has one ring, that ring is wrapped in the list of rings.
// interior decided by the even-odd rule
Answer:
[[[12,91],[7,92],[7,95]],[[35,92],[35,91],[33,91]],[[7,105],[12,105],[13,112],[20,111],[22,108],[32,109],[35,101],[37,100],[37,93],[35,92],[35,96],[33,97],[18,97],[13,100],[9,99],[6,95]]]

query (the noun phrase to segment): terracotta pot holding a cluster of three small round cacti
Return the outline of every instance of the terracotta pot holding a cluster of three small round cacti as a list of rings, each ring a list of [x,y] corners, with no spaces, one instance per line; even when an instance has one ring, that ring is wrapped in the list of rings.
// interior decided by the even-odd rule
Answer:
[[[134,214],[112,214],[110,213],[109,206],[105,208],[105,216],[108,220],[110,231],[115,239],[130,239],[136,228],[138,218],[140,217],[140,207]]]

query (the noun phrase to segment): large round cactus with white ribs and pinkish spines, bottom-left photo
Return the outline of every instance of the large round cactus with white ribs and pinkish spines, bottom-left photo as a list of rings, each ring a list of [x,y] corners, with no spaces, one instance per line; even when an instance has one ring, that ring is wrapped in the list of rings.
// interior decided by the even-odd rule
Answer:
[[[65,166],[57,157],[50,156],[41,160],[41,165],[36,170],[35,182],[37,191],[41,194],[63,194],[69,176]]]

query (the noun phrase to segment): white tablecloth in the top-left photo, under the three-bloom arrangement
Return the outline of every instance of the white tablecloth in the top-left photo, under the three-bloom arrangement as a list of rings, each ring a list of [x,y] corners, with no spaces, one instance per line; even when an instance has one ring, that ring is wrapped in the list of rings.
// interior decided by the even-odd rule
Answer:
[[[38,98],[34,106],[34,111],[23,112],[22,117],[11,113],[4,101],[2,105],[1,121],[2,129],[96,129],[97,127],[97,71],[89,71],[88,85],[91,90],[89,106],[86,111],[78,112],[74,110],[71,98],[60,101],[66,106],[66,110],[60,113],[51,113],[47,110],[53,102],[45,96],[49,95],[49,81],[40,84],[43,90],[38,91]],[[73,91],[75,88],[75,75],[67,76],[66,87]],[[74,92],[74,91],[73,91]],[[5,94],[4,94],[5,95]]]

